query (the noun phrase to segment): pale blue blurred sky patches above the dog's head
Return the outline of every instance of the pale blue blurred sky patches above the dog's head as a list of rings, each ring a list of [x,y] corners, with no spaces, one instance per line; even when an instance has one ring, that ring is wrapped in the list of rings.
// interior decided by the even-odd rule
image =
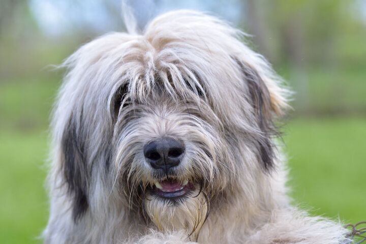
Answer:
[[[124,0],[133,8],[135,17],[145,24],[159,13],[173,9],[195,9],[216,13],[236,24],[240,19],[240,0]],[[124,26],[105,7],[103,0],[30,0],[29,6],[41,30],[49,36],[59,36],[75,29],[88,28],[97,33],[120,31]],[[110,0],[110,7],[122,13],[121,0]],[[122,15],[122,14],[120,14]],[[123,18],[122,16],[120,17]]]

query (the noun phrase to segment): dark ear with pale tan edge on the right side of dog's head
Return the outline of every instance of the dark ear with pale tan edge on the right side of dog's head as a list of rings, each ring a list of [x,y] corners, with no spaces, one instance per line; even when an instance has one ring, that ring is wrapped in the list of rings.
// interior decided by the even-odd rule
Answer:
[[[276,116],[281,115],[287,108],[287,98],[279,80],[268,76],[271,70],[260,70],[245,62],[236,59],[240,67],[243,80],[249,92],[248,102],[252,105],[260,130],[260,135],[253,135],[257,146],[259,160],[263,168],[268,171],[274,166],[275,147],[272,137],[278,135],[278,130],[273,123]],[[272,73],[270,73],[272,74]]]

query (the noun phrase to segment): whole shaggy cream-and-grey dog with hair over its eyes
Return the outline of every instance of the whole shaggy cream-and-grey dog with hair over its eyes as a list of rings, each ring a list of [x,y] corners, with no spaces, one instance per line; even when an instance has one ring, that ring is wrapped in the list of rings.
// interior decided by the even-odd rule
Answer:
[[[175,11],[65,66],[46,243],[346,243],[289,204],[288,90],[226,22]]]

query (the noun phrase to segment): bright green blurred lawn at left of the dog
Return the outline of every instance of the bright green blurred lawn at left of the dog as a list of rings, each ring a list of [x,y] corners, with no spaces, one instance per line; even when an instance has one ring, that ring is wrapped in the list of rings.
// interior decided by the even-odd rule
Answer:
[[[46,132],[0,131],[0,243],[39,243],[47,221]]]

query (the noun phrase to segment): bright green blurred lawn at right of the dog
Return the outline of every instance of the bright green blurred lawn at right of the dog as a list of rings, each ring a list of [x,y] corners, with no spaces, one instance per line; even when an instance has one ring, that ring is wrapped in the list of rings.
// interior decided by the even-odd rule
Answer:
[[[345,222],[366,220],[366,118],[296,119],[286,136],[295,203]]]

